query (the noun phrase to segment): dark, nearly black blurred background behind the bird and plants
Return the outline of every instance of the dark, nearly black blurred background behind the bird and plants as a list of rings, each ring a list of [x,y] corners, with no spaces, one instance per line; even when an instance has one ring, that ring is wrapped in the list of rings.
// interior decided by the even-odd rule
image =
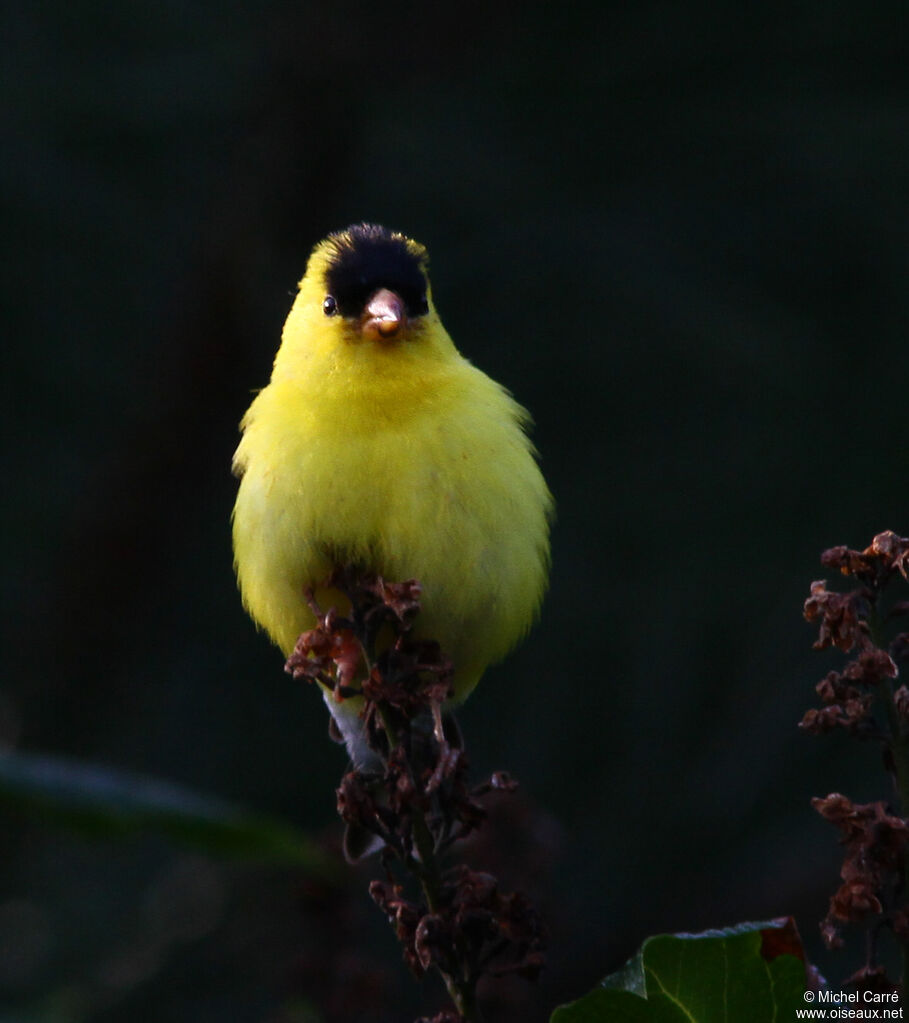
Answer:
[[[344,756],[240,608],[229,465],[312,244],[378,221],[429,248],[558,502],[540,625],[461,715],[478,773],[521,782],[504,873],[552,935],[496,1018],[744,919],[855,969],[858,937],[820,945],[809,799],[888,792],[797,729],[836,663],[801,609],[824,547],[909,533],[904,5],[2,20],[4,744],[336,838]],[[0,855],[4,1021],[417,1011],[362,877],[326,907],[294,871],[17,816]]]

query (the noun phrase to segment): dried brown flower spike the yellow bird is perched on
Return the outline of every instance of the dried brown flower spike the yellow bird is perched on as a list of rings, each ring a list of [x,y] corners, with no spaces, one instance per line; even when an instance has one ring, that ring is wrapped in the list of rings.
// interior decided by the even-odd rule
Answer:
[[[316,681],[338,703],[362,702],[360,717],[375,769],[354,768],[337,789],[346,849],[356,858],[380,847],[384,877],[369,886],[415,976],[437,971],[457,1015],[431,1023],[481,1019],[476,985],[484,976],[535,978],[543,966],[541,921],[520,893],[450,862],[452,847],[486,818],[480,800],[514,782],[496,772],[471,787],[460,733],[444,711],[452,665],[438,643],[413,638],[420,587],[388,583],[347,568],[327,582],[349,598],[347,616],[318,607],[286,669]],[[368,836],[370,841],[364,841]]]

